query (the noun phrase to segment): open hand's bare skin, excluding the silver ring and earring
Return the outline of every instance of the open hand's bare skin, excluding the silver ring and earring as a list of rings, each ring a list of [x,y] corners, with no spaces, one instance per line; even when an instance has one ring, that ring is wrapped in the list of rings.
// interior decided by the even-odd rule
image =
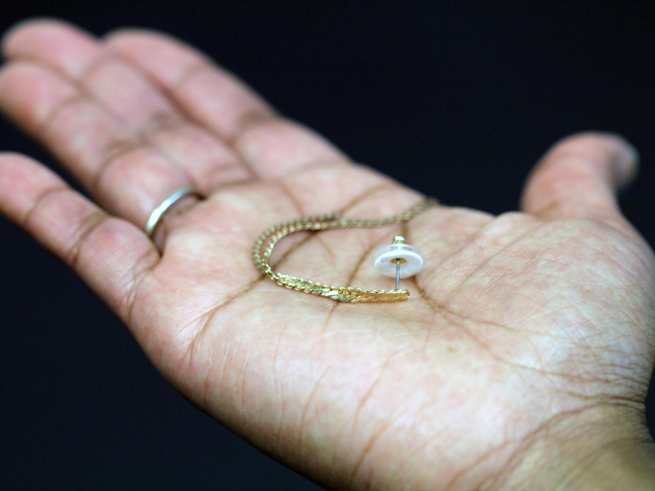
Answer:
[[[0,211],[71,266],[200,409],[338,490],[652,489],[644,421],[654,257],[616,190],[637,156],[584,133],[552,147],[521,211],[438,206],[402,226],[285,238],[272,263],[391,288],[367,259],[402,234],[427,259],[406,302],[339,304],[253,267],[257,235],[422,196],[351,162],[172,37],[96,38],[52,19],[2,41],[0,109],[97,204],[0,153]],[[195,185],[154,241],[141,231]]]

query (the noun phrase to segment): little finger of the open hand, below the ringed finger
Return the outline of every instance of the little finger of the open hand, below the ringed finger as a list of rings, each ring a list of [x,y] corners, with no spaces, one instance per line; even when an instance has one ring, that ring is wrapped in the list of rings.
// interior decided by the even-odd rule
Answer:
[[[123,319],[138,283],[159,261],[134,225],[107,215],[24,155],[0,153],[0,212],[73,268]]]

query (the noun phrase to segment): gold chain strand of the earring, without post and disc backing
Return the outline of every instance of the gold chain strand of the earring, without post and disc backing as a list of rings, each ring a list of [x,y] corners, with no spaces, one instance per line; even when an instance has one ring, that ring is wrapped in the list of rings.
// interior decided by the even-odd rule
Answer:
[[[291,276],[290,274],[278,273],[271,268],[269,259],[271,258],[275,244],[281,238],[293,234],[293,232],[300,232],[301,230],[331,230],[333,228],[348,227],[385,227],[386,225],[394,225],[411,220],[425,209],[435,206],[437,203],[432,198],[426,198],[419,204],[398,215],[382,219],[341,218],[341,212],[335,211],[333,213],[278,223],[278,225],[273,225],[267,228],[267,230],[264,230],[257,238],[252,249],[252,261],[260,272],[280,286],[304,291],[312,295],[329,297],[333,300],[339,300],[339,302],[398,302],[400,300],[407,300],[409,298],[409,291],[407,290],[369,290],[350,286],[331,286],[304,280],[303,278]],[[269,242],[264,247],[267,240]]]

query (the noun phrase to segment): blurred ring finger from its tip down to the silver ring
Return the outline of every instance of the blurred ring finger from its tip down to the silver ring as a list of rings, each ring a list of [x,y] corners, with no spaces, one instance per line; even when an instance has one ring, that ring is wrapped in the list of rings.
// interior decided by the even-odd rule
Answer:
[[[65,162],[105,209],[139,227],[165,196],[189,185],[166,155],[140,145],[41,65],[14,62],[0,71],[0,108]]]

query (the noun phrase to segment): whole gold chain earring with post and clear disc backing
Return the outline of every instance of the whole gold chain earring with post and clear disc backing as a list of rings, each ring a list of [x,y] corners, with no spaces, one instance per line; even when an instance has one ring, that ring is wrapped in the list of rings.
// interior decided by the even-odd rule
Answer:
[[[403,236],[396,236],[392,244],[378,247],[371,254],[375,270],[384,276],[396,277],[396,289],[393,290],[370,290],[350,286],[332,286],[323,283],[312,282],[284,274],[273,270],[270,264],[271,253],[275,244],[283,237],[300,232],[301,230],[331,230],[335,228],[362,228],[362,227],[384,227],[409,221],[422,211],[436,206],[437,200],[427,198],[412,208],[403,211],[398,215],[383,219],[343,219],[341,213],[326,213],[313,217],[304,217],[279,223],[267,228],[262,232],[252,250],[252,261],[255,267],[267,278],[270,278],[280,286],[297,291],[311,293],[328,297],[339,302],[398,302],[409,298],[409,291],[400,289],[400,278],[408,278],[417,274],[425,262],[425,255],[421,249],[413,245],[405,244]]]

